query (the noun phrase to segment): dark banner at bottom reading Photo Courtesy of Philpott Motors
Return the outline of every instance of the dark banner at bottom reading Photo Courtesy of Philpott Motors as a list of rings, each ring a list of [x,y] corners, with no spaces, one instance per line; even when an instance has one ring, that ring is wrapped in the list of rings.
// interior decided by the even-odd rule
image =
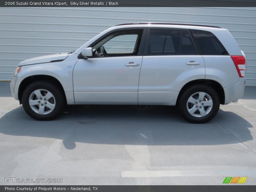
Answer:
[[[255,192],[255,185],[1,185],[0,192],[73,192],[73,191],[94,191],[94,192]]]

